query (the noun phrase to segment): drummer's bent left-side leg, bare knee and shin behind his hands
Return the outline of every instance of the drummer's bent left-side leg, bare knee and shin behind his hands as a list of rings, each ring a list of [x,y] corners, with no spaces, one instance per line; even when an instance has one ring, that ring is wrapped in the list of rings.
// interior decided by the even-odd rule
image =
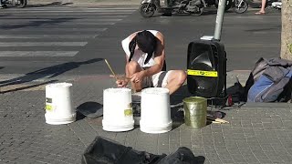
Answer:
[[[126,66],[126,77],[131,77],[133,74],[142,71],[143,69],[140,67],[140,65],[135,61],[130,61]],[[142,81],[140,82],[130,82],[132,89],[134,89],[136,92],[140,92],[142,89]]]

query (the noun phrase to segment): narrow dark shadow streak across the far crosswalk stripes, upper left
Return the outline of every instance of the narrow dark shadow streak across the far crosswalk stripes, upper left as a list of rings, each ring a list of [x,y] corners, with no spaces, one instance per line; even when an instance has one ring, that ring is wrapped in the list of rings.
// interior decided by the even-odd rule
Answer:
[[[23,28],[23,27],[37,27],[43,25],[57,25],[64,22],[69,22],[75,20],[77,18],[51,18],[46,21],[31,21],[27,24],[20,24],[20,25],[2,25],[0,29],[16,29],[16,28]]]

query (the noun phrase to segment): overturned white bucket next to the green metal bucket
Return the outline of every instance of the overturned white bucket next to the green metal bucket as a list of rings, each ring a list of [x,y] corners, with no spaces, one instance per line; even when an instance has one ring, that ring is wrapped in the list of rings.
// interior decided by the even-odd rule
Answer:
[[[170,94],[167,88],[149,87],[141,91],[140,128],[145,133],[172,130]]]

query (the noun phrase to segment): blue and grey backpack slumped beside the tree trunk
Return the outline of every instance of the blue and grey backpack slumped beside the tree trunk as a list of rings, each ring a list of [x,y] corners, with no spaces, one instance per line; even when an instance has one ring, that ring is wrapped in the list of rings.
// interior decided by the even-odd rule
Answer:
[[[247,102],[275,102],[291,99],[292,62],[260,58],[245,84]]]

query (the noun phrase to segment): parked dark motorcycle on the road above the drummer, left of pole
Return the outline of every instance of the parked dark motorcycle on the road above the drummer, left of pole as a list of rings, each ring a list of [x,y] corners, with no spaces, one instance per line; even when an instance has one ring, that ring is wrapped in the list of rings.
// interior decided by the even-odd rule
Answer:
[[[142,0],[139,11],[143,17],[151,17],[156,11],[164,15],[202,15],[204,7],[204,0],[164,0],[162,3],[160,0]]]

